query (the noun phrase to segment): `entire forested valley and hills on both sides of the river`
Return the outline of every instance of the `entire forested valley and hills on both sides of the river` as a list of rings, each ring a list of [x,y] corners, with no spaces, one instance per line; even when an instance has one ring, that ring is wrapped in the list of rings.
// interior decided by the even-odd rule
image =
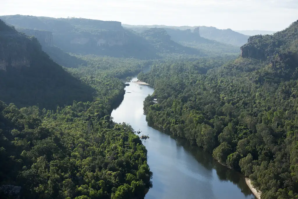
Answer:
[[[54,46],[0,20],[0,186],[22,187],[21,198],[144,198],[153,186],[147,149],[111,118],[138,74],[155,89],[144,101],[149,125],[242,172],[262,199],[298,198],[298,21],[237,50],[246,36],[232,30],[203,38],[114,21],[1,18],[52,31]]]

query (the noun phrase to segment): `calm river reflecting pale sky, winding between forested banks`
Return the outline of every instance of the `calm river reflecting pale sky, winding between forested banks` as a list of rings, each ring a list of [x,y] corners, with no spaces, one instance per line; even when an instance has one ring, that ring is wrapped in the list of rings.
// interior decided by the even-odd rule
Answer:
[[[150,138],[142,142],[148,150],[153,188],[145,199],[255,199],[242,174],[222,166],[210,153],[190,146],[185,139],[149,127],[143,101],[154,90],[129,84],[122,104],[111,116],[117,123],[129,123],[142,131],[140,135],[149,134]]]

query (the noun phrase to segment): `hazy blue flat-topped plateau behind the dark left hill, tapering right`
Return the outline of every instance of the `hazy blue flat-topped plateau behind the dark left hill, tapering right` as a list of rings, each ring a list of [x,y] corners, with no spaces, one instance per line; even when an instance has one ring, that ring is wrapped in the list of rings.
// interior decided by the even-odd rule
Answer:
[[[20,29],[52,32],[52,45],[67,53],[139,59],[160,58],[160,53],[165,55],[177,52],[182,54],[190,52],[191,55],[201,56],[198,50],[190,50],[190,48],[185,48],[174,41],[170,41],[171,44],[166,44],[172,47],[160,48],[152,39],[146,39],[147,37],[144,38],[131,30],[124,29],[121,22],[117,21],[22,15],[0,16],[0,18]],[[167,43],[168,41],[164,42]],[[49,51],[49,54],[52,51]],[[57,57],[57,53],[55,53],[55,57]],[[63,64],[60,59],[56,60]]]

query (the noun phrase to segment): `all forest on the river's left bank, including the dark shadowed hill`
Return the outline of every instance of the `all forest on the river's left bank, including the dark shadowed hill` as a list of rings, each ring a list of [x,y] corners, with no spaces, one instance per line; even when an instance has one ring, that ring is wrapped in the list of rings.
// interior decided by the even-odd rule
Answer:
[[[0,198],[144,198],[147,150],[110,114],[125,93],[119,78],[146,62],[90,58],[66,72],[3,21],[0,59]]]

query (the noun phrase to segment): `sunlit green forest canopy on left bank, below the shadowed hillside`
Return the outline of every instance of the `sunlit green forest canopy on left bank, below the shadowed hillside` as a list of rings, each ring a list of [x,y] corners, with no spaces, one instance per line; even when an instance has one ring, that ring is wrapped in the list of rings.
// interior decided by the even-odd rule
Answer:
[[[147,151],[98,103],[56,112],[3,104],[0,184],[21,186],[25,198],[144,197],[152,186]]]

